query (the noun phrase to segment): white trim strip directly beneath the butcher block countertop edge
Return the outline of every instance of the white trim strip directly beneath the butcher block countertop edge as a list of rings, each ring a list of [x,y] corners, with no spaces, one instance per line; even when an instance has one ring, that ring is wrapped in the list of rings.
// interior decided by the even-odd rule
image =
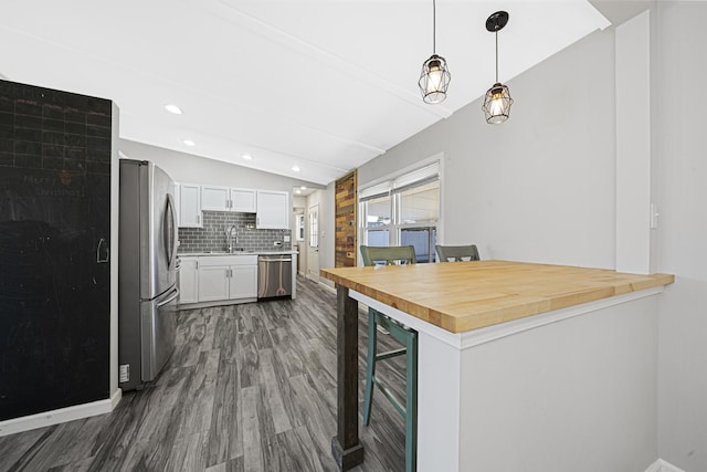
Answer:
[[[540,313],[534,316],[527,316],[520,319],[514,319],[511,322],[500,323],[485,328],[472,329],[463,333],[452,333],[443,329],[439,326],[434,326],[420,318],[411,316],[398,308],[393,308],[390,305],[386,305],[370,296],[349,291],[351,298],[378,310],[391,316],[394,319],[410,326],[422,333],[426,333],[430,336],[449,344],[460,350],[468,349],[469,347],[478,346],[481,344],[490,343],[492,340],[499,339],[502,337],[511,336],[514,334],[523,333],[525,331],[535,329],[540,326],[549,325],[551,323],[558,323],[563,319],[569,319],[574,316],[584,315],[587,313],[595,312],[598,310],[606,308],[609,306],[619,305],[634,300],[645,298],[647,296],[659,294],[664,291],[664,286],[657,286],[652,289],[642,290],[639,292],[631,292],[624,295],[612,296],[609,298],[598,300],[595,302],[582,303],[581,305],[570,306],[568,308],[555,310],[552,312]]]

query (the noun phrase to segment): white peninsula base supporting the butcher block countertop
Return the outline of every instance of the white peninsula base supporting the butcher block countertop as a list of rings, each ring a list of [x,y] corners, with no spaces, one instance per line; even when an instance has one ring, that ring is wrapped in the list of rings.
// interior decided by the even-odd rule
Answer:
[[[645,471],[657,460],[663,286],[464,333],[415,328],[419,471]]]

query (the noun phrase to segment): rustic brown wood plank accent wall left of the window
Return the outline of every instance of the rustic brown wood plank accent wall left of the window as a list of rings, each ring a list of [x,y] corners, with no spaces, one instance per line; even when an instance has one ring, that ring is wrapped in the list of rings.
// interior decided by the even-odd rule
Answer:
[[[335,268],[355,268],[357,251],[357,171],[336,181],[335,192]]]

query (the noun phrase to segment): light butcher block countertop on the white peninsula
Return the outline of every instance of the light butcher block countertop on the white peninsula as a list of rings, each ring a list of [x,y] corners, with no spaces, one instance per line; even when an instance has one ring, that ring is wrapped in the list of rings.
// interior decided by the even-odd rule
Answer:
[[[323,269],[321,276],[452,333],[675,281],[603,269],[509,261]]]

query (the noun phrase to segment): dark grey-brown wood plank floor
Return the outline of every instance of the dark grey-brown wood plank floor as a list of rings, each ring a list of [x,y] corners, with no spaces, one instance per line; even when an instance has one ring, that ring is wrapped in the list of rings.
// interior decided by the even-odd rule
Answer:
[[[298,284],[295,301],[179,312],[160,377],[109,415],[0,438],[0,471],[337,470],[336,295]],[[366,316],[359,328],[362,411]],[[404,398],[404,357],[378,370]],[[357,470],[401,471],[403,420],[373,403]]]

